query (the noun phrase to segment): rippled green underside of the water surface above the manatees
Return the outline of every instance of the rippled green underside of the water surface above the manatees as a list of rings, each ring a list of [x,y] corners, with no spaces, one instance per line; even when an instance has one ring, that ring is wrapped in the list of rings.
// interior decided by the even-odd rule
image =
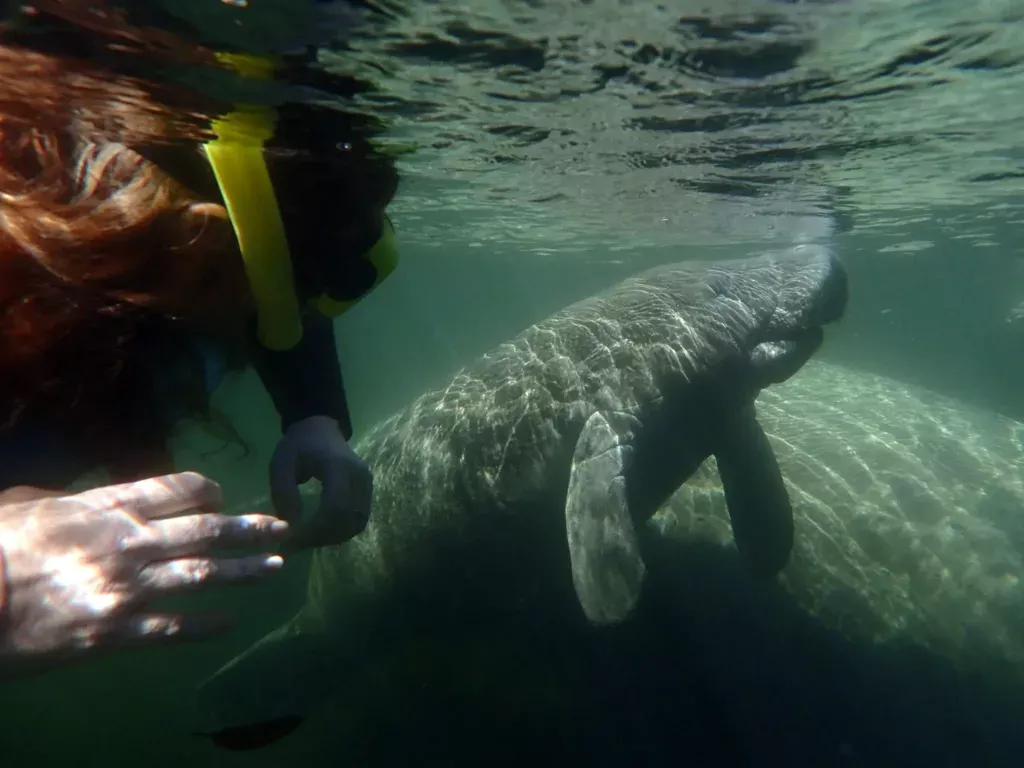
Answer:
[[[420,2],[322,56],[420,147],[414,241],[714,245],[835,211],[893,251],[927,248],[925,222],[1015,248],[1022,20],[1016,0]]]

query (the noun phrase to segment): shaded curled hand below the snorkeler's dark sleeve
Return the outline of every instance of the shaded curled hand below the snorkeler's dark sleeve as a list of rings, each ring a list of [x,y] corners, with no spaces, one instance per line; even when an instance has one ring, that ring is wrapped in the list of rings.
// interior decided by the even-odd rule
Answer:
[[[323,484],[319,507],[302,521],[299,485],[315,477]],[[293,523],[295,532],[284,551],[347,542],[370,520],[374,478],[328,416],[296,422],[270,458],[270,499],[278,514]]]

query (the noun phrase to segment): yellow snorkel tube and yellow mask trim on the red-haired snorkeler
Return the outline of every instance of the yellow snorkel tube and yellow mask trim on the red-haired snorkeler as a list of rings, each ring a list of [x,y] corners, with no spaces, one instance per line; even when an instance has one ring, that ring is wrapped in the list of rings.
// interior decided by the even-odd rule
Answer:
[[[275,62],[261,56],[218,53],[217,58],[240,74],[268,79]],[[213,121],[217,138],[204,145],[220,187],[227,215],[245,262],[256,300],[257,337],[267,349],[291,349],[302,339],[302,311],[295,293],[292,258],[273,183],[263,158],[263,145],[273,136],[276,115],[268,106],[240,106]],[[394,229],[384,217],[384,231],[367,254],[377,276],[376,288],[395,267],[398,252]],[[358,299],[338,301],[322,295],[313,305],[337,317]]]

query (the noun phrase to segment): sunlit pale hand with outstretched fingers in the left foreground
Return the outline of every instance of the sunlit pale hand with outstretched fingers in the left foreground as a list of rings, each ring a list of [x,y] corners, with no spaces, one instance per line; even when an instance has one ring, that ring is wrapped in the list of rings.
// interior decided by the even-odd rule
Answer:
[[[222,615],[145,612],[155,598],[281,567],[269,554],[209,556],[271,545],[288,530],[269,515],[216,514],[220,505],[220,486],[195,472],[73,496],[0,494],[0,676],[226,630]],[[179,516],[191,509],[202,514]]]

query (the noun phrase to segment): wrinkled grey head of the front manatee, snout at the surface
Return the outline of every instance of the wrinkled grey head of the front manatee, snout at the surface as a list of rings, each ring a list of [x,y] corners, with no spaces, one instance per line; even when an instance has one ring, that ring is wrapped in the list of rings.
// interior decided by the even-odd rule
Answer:
[[[656,267],[624,284],[602,311],[623,324],[628,343],[652,350],[647,365],[663,389],[672,380],[692,388],[711,376],[739,385],[745,400],[810,359],[822,326],[842,317],[847,291],[830,249],[800,245]],[[651,355],[666,346],[675,356],[658,364]]]

